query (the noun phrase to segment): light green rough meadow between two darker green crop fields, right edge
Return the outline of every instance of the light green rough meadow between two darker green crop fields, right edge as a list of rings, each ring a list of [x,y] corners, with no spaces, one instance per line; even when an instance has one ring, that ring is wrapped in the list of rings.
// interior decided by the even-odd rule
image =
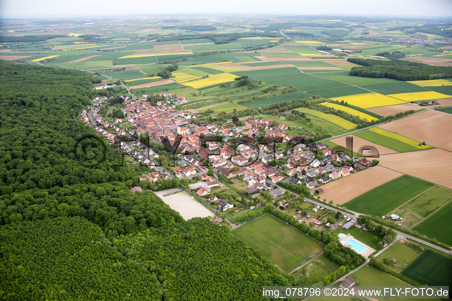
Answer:
[[[405,204],[405,208],[426,218],[450,199],[452,199],[452,190],[435,186]]]

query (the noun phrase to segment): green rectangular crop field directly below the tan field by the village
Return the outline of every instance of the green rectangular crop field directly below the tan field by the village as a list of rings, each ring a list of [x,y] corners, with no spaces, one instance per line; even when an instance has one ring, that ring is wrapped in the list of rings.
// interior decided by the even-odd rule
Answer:
[[[357,196],[344,206],[355,212],[381,217],[432,186],[430,182],[403,175]]]

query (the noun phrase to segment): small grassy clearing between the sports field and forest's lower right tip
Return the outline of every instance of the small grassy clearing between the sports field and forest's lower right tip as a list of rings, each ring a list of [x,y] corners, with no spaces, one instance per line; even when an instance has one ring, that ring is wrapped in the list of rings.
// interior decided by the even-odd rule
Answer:
[[[306,270],[303,269],[304,267],[306,267]],[[321,281],[326,275],[339,269],[339,265],[326,259],[324,255],[315,257],[304,267],[292,274],[295,276],[295,280],[299,283],[302,283],[303,285],[317,283]],[[300,282],[301,279],[303,280]]]

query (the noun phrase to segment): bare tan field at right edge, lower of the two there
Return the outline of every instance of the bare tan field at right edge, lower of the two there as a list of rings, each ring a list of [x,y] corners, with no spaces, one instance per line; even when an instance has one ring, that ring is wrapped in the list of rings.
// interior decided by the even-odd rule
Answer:
[[[439,148],[380,156],[381,166],[448,188],[452,188],[450,162],[452,153]]]

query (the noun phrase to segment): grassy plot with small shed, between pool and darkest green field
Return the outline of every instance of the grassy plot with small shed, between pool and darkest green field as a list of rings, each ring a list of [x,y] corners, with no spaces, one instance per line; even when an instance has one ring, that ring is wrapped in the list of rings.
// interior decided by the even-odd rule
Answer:
[[[400,241],[397,241],[394,245],[391,245],[383,253],[378,255],[377,259],[380,259],[381,261],[383,261],[383,258],[397,259],[397,264],[392,266],[389,265],[389,268],[396,273],[400,273],[421,253],[422,250],[416,250],[413,247],[410,247],[410,245],[408,244],[402,244]]]

